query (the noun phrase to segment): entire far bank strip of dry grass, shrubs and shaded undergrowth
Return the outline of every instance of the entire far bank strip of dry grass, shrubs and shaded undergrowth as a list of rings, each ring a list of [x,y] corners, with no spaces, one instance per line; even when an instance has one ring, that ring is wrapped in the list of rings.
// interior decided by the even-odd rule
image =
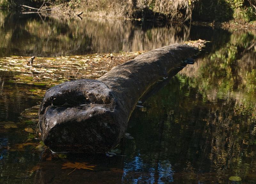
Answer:
[[[0,9],[81,19],[89,16],[221,28],[256,27],[256,0],[0,0]]]

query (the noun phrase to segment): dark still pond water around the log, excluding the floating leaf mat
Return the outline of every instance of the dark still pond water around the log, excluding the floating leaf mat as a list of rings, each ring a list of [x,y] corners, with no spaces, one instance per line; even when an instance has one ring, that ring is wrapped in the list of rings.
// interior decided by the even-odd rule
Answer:
[[[15,72],[2,71],[0,183],[256,183],[256,30],[0,12],[0,57],[142,51],[199,38],[211,42],[140,99],[127,129],[134,139],[114,157],[52,154],[35,132],[31,107],[42,97],[29,93],[46,87],[11,83]]]

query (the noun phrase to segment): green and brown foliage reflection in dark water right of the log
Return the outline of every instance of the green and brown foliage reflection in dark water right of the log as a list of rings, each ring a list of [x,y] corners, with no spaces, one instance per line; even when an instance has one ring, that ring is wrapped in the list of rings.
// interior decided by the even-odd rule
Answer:
[[[212,43],[211,53],[134,111],[124,183],[161,183],[150,178],[166,161],[172,183],[228,183],[230,176],[255,183],[255,35],[235,31],[220,48]]]

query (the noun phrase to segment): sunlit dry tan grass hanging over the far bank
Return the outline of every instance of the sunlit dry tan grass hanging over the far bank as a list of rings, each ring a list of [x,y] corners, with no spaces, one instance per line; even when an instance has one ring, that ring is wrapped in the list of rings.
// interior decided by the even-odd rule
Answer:
[[[145,10],[159,12],[173,19],[182,14],[183,19],[191,18],[194,4],[199,0],[71,0],[55,9],[55,13],[74,14],[83,11],[86,15],[109,18],[137,18],[134,11],[140,11],[143,16]],[[182,10],[182,13],[181,11]]]

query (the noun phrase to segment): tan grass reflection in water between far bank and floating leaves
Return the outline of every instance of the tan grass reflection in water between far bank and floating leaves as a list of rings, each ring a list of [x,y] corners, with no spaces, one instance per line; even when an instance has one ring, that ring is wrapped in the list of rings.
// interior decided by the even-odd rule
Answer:
[[[42,18],[42,19],[41,19]],[[0,57],[152,50],[187,40],[185,25],[111,19],[54,19],[0,11]]]

